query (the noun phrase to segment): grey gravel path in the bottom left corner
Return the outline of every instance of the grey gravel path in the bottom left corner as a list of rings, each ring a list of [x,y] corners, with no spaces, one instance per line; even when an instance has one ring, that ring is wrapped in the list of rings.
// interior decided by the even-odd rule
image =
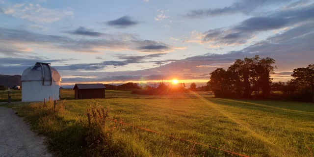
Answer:
[[[44,139],[30,131],[14,110],[0,107],[0,157],[52,157]]]

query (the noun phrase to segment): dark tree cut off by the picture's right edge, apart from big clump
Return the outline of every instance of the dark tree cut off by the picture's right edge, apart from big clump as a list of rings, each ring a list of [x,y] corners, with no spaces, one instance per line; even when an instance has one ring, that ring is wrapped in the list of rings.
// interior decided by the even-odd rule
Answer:
[[[291,75],[294,79],[292,81],[305,84],[311,87],[314,103],[314,64],[310,64],[306,68],[297,68],[293,70]]]

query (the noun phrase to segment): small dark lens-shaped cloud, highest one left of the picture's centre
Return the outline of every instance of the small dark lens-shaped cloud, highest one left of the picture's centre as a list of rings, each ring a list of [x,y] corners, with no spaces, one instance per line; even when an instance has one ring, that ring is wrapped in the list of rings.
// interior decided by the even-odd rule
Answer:
[[[138,25],[139,22],[132,20],[131,17],[129,17],[129,16],[123,16],[123,17],[118,18],[116,20],[107,21],[106,24],[108,26],[115,26],[118,28],[126,28],[126,27],[130,27],[130,26]]]

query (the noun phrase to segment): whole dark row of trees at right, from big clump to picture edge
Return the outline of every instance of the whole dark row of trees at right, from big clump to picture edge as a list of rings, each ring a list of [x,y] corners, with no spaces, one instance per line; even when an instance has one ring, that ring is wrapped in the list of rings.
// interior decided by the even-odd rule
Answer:
[[[270,74],[277,68],[269,57],[236,59],[227,69],[217,68],[210,73],[207,86],[217,98],[259,98],[314,101],[314,64],[297,68],[288,82],[272,82]],[[274,91],[282,93],[275,94]]]

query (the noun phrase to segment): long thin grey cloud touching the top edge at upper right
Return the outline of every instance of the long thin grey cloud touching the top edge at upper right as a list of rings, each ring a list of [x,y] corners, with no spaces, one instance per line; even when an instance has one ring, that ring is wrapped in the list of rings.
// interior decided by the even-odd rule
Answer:
[[[291,1],[293,2],[294,0],[239,0],[224,8],[191,10],[183,16],[187,18],[200,18],[207,16],[212,17],[231,15],[235,13],[241,13],[245,15],[262,15],[264,12],[268,12],[269,8],[283,7],[287,5],[287,3],[289,4]]]

